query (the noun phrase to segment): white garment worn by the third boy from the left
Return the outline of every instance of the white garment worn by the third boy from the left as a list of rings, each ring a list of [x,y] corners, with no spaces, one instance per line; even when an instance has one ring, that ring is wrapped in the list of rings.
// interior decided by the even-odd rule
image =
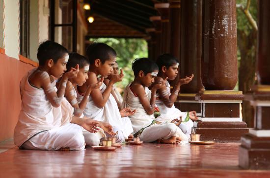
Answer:
[[[103,84],[100,89],[103,92],[106,89],[106,85]],[[82,98],[83,96],[77,93],[77,100],[79,102],[81,102]],[[96,107],[91,96],[89,96],[83,114],[88,118],[109,123],[113,127],[113,131],[118,132],[116,136],[117,143],[123,142],[133,132],[129,117],[121,117],[117,103],[111,94],[103,108]],[[107,134],[107,136],[111,135]]]

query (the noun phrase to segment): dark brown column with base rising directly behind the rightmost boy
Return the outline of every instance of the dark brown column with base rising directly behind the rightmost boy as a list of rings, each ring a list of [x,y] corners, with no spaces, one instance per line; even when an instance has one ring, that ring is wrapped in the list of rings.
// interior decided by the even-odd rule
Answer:
[[[181,111],[197,111],[201,116],[202,103],[195,100],[201,82],[201,48],[202,48],[202,0],[181,0],[181,57],[180,77],[194,74],[188,85],[181,86],[181,93],[175,105]]]

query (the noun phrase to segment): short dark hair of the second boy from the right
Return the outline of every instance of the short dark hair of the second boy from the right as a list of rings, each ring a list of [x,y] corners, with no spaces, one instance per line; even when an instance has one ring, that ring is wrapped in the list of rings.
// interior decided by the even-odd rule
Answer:
[[[147,75],[154,70],[159,70],[159,67],[154,61],[149,58],[137,58],[132,62],[132,70],[136,77],[140,70],[143,71],[144,75]]]

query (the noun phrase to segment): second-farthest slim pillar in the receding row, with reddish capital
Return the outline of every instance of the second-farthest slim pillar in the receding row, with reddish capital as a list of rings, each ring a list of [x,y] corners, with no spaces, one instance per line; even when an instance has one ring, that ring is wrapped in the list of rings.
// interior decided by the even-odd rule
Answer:
[[[153,22],[155,26],[155,38],[156,38],[156,46],[155,46],[155,52],[153,55],[155,59],[157,60],[157,57],[162,54],[162,31],[161,31],[161,16],[151,16],[150,21]]]

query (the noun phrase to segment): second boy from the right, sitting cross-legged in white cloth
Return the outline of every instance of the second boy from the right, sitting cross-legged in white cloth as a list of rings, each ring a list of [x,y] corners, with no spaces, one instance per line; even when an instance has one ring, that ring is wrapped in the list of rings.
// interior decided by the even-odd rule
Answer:
[[[135,59],[132,69],[135,79],[129,84],[123,96],[122,108],[135,109],[135,114],[129,116],[133,126],[134,136],[146,143],[188,143],[188,138],[174,123],[160,123],[154,117],[157,89],[165,85],[165,81],[148,89],[158,75],[159,68],[148,58]]]

